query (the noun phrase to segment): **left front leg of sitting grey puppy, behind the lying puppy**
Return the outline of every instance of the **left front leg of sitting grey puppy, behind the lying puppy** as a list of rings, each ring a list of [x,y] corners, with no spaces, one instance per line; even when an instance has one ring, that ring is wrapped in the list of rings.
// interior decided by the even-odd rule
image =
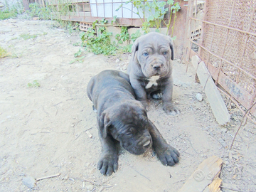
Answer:
[[[141,83],[138,80],[130,79],[130,81],[132,84],[132,88],[134,89],[136,99],[142,102],[142,105],[146,110],[149,110],[149,101],[147,99],[144,87],[142,87]]]

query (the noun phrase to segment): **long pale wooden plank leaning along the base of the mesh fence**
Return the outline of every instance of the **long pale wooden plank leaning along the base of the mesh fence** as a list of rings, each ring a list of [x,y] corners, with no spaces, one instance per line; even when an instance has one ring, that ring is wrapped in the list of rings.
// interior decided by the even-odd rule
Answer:
[[[208,69],[206,68],[206,64],[203,61],[200,61],[201,59],[198,58],[197,55],[192,57],[192,65],[196,69],[196,74],[204,88],[204,92],[206,93],[206,97],[210,103],[210,108],[213,110],[214,117],[218,124],[227,124],[230,122],[228,109],[225,106],[223,98],[215,86]]]

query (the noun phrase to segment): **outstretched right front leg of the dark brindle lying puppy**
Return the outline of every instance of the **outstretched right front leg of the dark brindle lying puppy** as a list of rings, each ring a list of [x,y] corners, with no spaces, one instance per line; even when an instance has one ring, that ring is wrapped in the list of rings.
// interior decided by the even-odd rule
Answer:
[[[156,126],[149,120],[149,132],[151,134],[153,149],[159,160],[165,166],[174,166],[178,163],[178,150],[167,144]]]

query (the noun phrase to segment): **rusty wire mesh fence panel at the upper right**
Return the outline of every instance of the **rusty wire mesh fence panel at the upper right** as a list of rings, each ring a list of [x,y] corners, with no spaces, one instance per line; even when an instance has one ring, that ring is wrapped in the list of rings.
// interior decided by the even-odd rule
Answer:
[[[199,54],[215,83],[248,110],[256,102],[256,1],[208,0],[204,11]],[[256,107],[251,112],[256,117]]]

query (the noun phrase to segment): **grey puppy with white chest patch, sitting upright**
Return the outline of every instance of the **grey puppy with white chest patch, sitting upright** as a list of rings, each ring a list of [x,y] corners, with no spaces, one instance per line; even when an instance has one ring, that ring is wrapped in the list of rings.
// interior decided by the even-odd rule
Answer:
[[[174,60],[174,46],[169,36],[152,32],[134,42],[127,73],[137,100],[146,110],[149,107],[147,99],[151,96],[162,99],[167,114],[179,113],[172,100],[171,60]]]

